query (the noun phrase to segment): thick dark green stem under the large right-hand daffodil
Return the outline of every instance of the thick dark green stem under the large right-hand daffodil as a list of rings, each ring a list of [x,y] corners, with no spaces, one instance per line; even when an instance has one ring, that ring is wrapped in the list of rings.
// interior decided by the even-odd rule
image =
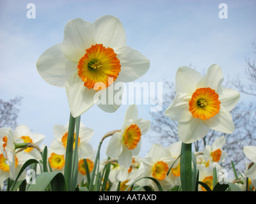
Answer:
[[[180,182],[182,191],[193,191],[191,143],[183,143],[180,152]]]

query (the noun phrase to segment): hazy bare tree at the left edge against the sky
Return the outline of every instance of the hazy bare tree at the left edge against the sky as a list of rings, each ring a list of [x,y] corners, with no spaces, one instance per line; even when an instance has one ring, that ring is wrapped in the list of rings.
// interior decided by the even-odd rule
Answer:
[[[0,128],[16,128],[21,97],[15,97],[10,101],[0,99]]]

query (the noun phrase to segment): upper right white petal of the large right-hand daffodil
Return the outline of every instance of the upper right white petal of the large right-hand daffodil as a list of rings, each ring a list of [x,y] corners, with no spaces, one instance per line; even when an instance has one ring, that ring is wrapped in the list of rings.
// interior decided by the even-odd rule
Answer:
[[[216,92],[218,92],[218,89],[221,86],[221,83],[223,82],[224,77],[222,73],[222,69],[217,64],[212,64],[208,70],[207,74],[202,78],[198,84],[196,85],[196,88],[204,88],[209,87],[211,89],[214,89]]]

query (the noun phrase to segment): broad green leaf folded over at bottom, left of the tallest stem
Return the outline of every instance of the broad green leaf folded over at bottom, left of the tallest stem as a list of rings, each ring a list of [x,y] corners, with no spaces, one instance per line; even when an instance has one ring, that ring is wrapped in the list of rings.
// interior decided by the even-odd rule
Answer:
[[[28,191],[45,191],[47,186],[51,184],[52,191],[65,191],[65,179],[62,173],[44,172],[36,177],[35,184],[28,187]]]

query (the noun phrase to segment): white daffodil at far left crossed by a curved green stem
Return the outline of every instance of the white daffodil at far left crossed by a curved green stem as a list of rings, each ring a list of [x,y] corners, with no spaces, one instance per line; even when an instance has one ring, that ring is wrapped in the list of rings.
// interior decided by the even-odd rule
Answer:
[[[38,146],[42,143],[42,141],[45,138],[45,136],[40,133],[31,133],[31,130],[26,125],[17,126],[13,133],[15,133],[15,136],[20,139],[20,143],[33,143]],[[42,158],[40,152],[33,147],[26,148],[24,152],[30,154],[33,158],[37,159],[38,161]]]

